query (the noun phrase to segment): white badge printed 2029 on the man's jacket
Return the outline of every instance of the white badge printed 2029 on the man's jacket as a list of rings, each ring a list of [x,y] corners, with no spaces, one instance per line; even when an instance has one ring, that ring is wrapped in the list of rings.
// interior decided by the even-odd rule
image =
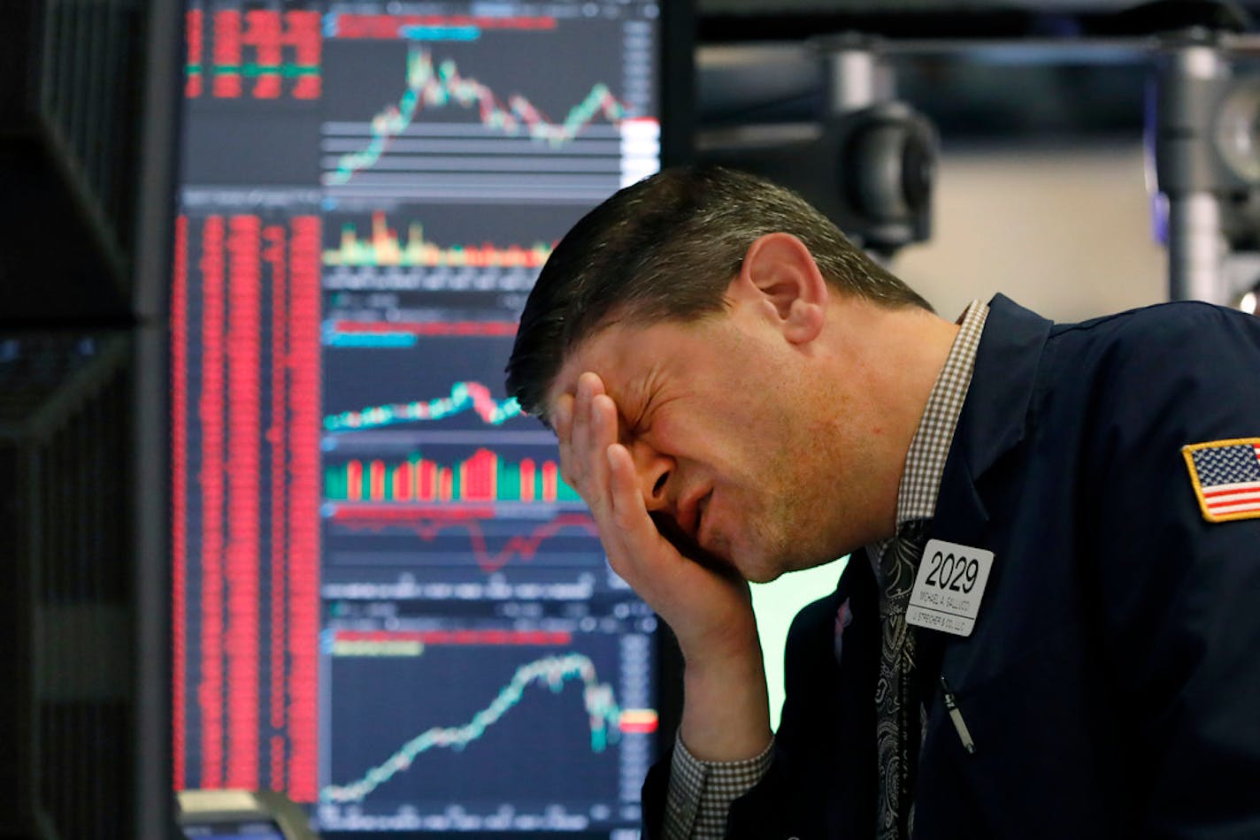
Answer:
[[[929,540],[919,562],[906,623],[970,636],[989,581],[993,552],[941,539]]]

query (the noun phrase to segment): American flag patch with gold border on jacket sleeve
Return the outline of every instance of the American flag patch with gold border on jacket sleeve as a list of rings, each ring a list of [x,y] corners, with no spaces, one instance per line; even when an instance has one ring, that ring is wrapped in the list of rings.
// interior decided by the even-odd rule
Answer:
[[[1260,518],[1260,437],[1183,446],[1203,519]]]

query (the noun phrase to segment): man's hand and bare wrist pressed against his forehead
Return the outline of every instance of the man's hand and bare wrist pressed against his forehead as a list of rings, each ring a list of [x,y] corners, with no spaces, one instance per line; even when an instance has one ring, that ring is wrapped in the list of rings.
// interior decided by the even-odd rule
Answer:
[[[617,441],[617,407],[583,373],[557,400],[561,475],[591,509],[612,569],[673,628],[687,661],[683,741],[699,758],[731,761],[770,741],[761,646],[748,584],[732,569],[683,557],[656,529],[630,451]]]

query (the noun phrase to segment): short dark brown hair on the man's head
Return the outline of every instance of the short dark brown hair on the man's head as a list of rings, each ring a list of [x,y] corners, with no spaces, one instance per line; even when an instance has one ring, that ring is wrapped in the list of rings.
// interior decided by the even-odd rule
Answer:
[[[520,317],[508,393],[542,416],[568,353],[612,317],[649,324],[721,311],[748,247],[777,232],[800,239],[832,286],[931,309],[796,193],[719,166],[667,169],[587,213],[552,252]]]

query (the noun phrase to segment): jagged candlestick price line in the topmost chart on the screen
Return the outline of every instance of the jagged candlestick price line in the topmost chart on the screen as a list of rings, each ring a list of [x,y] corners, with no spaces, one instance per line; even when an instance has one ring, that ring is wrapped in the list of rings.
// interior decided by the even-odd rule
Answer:
[[[455,62],[447,59],[435,67],[428,50],[420,49],[407,55],[407,91],[398,105],[391,105],[372,118],[372,141],[368,147],[343,155],[336,171],[329,175],[329,181],[344,184],[354,173],[375,164],[389,140],[406,131],[425,106],[441,108],[452,102],[465,108],[478,108],[481,123],[488,128],[507,135],[518,135],[524,130],[530,139],[557,146],[576,137],[601,113],[614,123],[626,116],[625,107],[609,87],[597,82],[581,102],[570,108],[563,121],[551,122],[523,96],[512,96],[507,103],[501,103],[486,86],[461,77]]]

